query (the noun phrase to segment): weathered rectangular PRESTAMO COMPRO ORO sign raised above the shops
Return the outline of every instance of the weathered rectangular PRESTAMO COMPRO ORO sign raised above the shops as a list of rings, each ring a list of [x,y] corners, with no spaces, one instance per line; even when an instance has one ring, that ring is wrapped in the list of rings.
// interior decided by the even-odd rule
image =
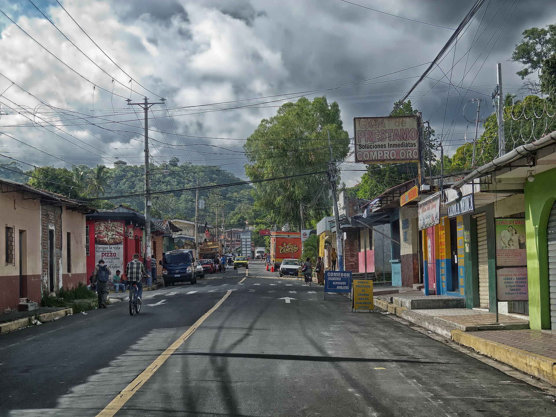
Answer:
[[[355,162],[419,160],[418,116],[355,117]]]

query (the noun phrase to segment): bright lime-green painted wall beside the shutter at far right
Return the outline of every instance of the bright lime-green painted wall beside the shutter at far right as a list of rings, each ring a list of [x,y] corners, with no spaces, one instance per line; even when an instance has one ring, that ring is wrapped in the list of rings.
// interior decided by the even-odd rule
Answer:
[[[548,289],[548,216],[556,200],[556,168],[525,181],[525,233],[527,234],[527,279],[529,326],[550,329]]]

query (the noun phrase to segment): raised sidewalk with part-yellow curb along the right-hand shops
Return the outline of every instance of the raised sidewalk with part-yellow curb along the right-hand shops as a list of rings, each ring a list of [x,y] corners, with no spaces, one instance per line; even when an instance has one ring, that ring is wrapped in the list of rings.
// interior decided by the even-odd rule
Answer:
[[[500,314],[497,323],[488,311],[409,309],[384,298],[375,296],[375,306],[556,385],[556,332],[530,330],[524,317]]]

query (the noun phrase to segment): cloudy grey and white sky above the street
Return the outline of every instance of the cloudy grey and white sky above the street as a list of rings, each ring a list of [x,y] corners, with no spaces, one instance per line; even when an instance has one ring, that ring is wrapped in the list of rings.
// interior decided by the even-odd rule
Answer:
[[[473,4],[59,1],[63,8],[56,0],[0,0],[4,156],[67,167],[140,163],[142,113],[125,100],[162,97],[165,105],[154,106],[149,120],[155,162],[176,156],[240,177],[242,143],[285,101],[326,95],[339,102],[350,136],[353,117],[386,115]],[[523,94],[515,75],[521,67],[508,58],[524,29],[555,22],[553,0],[486,0],[410,97],[449,150],[474,131],[465,117],[474,119],[475,105],[464,117],[466,102],[484,98],[481,116],[492,111],[497,62],[505,92]],[[364,168],[343,167],[348,185]]]

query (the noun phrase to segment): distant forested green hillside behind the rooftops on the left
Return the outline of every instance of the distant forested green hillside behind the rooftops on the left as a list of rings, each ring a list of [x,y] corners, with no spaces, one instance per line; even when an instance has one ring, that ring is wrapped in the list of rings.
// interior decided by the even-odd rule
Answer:
[[[230,172],[217,166],[191,165],[171,161],[166,166],[152,166],[151,189],[153,191],[182,190],[195,188],[198,177],[199,198],[205,200],[205,209],[199,210],[199,221],[215,224],[216,211],[218,224],[222,224],[222,215],[226,227],[245,225],[246,220],[254,220],[257,216],[252,212],[253,197],[251,185],[242,184],[203,190],[207,185],[242,182]],[[167,170],[167,171],[165,171]],[[166,173],[165,173],[166,172]],[[28,182],[30,185],[52,192],[76,198],[96,200],[87,201],[99,209],[111,209],[124,204],[143,211],[142,196],[115,198],[118,195],[133,195],[145,190],[143,165],[130,165],[124,162],[115,163],[108,168],[98,165],[94,168],[80,165],[72,170],[67,168],[39,167],[32,171],[23,171],[18,162],[0,163],[0,177],[17,182]],[[195,217],[195,190],[176,191],[153,196],[152,215],[162,219],[179,217],[193,219]]]

